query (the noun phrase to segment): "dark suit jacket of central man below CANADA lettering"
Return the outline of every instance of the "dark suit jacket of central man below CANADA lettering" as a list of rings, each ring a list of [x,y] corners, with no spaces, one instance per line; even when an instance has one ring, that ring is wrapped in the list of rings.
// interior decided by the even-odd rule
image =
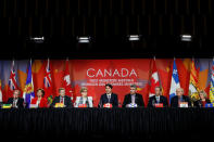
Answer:
[[[101,98],[100,98],[100,103],[98,104],[98,107],[103,107],[103,105],[105,103],[111,103],[112,104],[112,107],[118,107],[117,94],[112,93],[111,94],[110,102],[109,102],[109,99],[106,96],[106,93],[102,94]]]

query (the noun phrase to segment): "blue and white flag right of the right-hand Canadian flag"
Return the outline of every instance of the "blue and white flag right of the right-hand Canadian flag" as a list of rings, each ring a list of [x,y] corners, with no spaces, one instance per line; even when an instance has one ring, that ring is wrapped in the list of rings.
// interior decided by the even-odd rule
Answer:
[[[176,62],[174,60],[173,74],[172,74],[172,79],[171,79],[169,103],[171,103],[171,99],[176,95],[177,88],[180,88],[180,81],[179,81],[179,77],[178,77]]]

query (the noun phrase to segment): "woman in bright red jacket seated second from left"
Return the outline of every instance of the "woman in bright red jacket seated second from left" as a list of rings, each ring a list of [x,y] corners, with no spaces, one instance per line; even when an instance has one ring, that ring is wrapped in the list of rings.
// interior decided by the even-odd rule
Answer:
[[[32,100],[30,104],[37,105],[39,108],[48,107],[48,101],[46,98],[43,98],[43,95],[45,95],[43,89],[38,89],[37,96]]]

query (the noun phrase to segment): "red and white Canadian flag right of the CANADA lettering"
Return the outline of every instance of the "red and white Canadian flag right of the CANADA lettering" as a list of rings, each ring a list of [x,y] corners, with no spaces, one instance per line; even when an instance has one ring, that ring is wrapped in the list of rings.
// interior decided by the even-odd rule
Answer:
[[[151,82],[151,86],[150,86],[149,96],[153,96],[155,94],[155,87],[160,87],[160,78],[159,78],[159,73],[156,69],[155,60],[153,60],[153,67],[152,67],[150,82]]]

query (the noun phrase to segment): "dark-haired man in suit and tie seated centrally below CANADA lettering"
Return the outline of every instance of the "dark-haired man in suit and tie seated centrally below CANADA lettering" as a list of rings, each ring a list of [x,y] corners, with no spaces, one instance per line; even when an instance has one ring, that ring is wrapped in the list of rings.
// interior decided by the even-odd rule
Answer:
[[[98,107],[103,107],[106,104],[112,105],[112,107],[118,107],[118,99],[115,93],[112,93],[112,85],[105,85],[105,93],[101,95]]]

